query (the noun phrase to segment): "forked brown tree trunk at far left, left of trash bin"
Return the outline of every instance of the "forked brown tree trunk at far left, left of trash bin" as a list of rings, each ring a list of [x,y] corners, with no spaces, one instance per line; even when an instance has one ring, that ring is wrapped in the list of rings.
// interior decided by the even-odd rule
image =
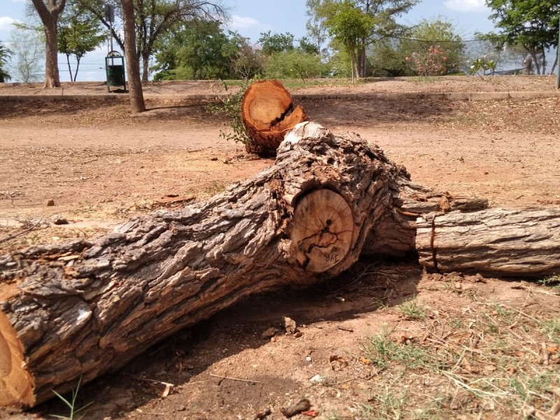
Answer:
[[[31,0],[45,32],[45,87],[60,87],[57,22],[66,0]]]

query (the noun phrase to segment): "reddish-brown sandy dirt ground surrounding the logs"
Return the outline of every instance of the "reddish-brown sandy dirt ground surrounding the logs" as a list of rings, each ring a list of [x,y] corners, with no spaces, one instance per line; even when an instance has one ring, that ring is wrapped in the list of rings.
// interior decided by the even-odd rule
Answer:
[[[415,78],[294,92],[546,92],[554,82]],[[64,87],[90,96],[105,89]],[[215,82],[146,87],[219,89]],[[131,116],[125,101],[113,99],[1,98],[43,93],[0,87],[0,253],[97,237],[131,216],[204,200],[274,163],[225,141],[228,121],[205,111],[209,101],[149,99],[148,112]],[[560,205],[558,98],[300,104],[332,132],[378,144],[416,183],[487,197],[493,207]],[[69,223],[54,225],[60,217]],[[85,419],[284,419],[281,409],[302,399],[310,408],[293,419],[556,419],[557,283],[362,261],[314,288],[251,297],[155,344],[80,388],[77,405],[92,402]],[[286,332],[285,316],[297,333]],[[174,386],[162,398],[165,383]],[[66,406],[55,399],[31,412],[0,411],[15,419],[52,414],[66,415]]]

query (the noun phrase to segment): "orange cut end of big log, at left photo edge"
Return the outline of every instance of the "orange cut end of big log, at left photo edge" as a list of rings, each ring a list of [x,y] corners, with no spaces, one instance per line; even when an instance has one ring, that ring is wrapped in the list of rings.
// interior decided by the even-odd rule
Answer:
[[[24,351],[8,318],[0,312],[0,407],[35,403],[33,379],[25,370]]]

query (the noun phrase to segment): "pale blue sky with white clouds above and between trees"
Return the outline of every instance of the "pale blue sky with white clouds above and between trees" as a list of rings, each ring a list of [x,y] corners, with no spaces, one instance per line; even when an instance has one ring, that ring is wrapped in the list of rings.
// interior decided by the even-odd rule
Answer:
[[[295,38],[306,34],[304,0],[223,0],[223,3],[230,8],[230,29],[237,30],[239,34],[251,38],[251,41],[257,41],[260,33],[266,31],[290,32]],[[0,41],[10,41],[13,22],[27,20],[25,8],[26,0],[0,0]],[[470,39],[475,31],[493,30],[489,14],[490,10],[484,6],[484,0],[424,0],[401,21],[412,25],[422,19],[444,18],[455,26],[464,39]],[[102,67],[106,52],[105,46],[83,57],[78,80],[105,80]],[[59,58],[61,80],[69,80],[65,60],[66,57]]]

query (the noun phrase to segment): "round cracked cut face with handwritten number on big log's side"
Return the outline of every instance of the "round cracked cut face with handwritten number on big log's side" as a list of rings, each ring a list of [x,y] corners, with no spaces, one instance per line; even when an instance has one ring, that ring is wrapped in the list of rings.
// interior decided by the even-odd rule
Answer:
[[[352,244],[352,209],[344,197],[325,188],[304,195],[293,215],[292,244],[297,262],[322,273],[344,259]]]

